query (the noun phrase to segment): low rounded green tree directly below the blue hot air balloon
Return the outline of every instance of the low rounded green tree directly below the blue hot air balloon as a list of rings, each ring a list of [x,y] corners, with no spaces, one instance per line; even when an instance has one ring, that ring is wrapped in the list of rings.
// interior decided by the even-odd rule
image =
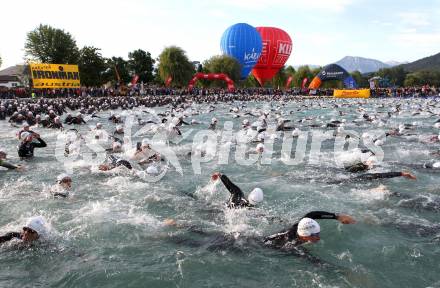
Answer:
[[[232,57],[226,55],[213,56],[202,64],[203,71],[207,73],[224,73],[237,82],[240,80],[241,67],[240,64]],[[211,81],[211,86],[225,87],[223,81]]]

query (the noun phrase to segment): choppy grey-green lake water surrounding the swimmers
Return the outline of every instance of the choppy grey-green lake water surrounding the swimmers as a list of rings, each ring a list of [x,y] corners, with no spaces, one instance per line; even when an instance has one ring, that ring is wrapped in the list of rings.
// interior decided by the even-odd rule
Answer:
[[[189,135],[169,146],[178,156],[182,174],[170,165],[156,182],[126,171],[100,172],[81,156],[72,163],[61,162],[55,156],[58,132],[36,128],[48,147],[35,149],[35,158],[25,163],[26,172],[0,171],[0,234],[19,231],[32,215],[43,215],[50,233],[31,247],[16,242],[0,246],[0,287],[440,287],[440,171],[417,166],[439,158],[432,154],[439,143],[424,141],[439,134],[433,126],[440,118],[437,99],[243,104],[247,108],[242,111],[272,110],[269,124],[275,123],[273,115],[279,112],[291,120],[287,125],[310,132],[303,161],[297,165],[282,161],[286,155],[281,152],[280,134],[273,148],[266,144],[273,151],[270,164],[258,160],[240,165],[232,147],[227,164],[214,153],[211,161],[201,163],[200,174],[194,171],[186,154],[212,117],[219,120],[219,140],[226,121],[232,121],[237,131],[243,119],[258,120],[233,118],[230,109],[240,103],[219,103],[211,112],[208,105],[195,105],[198,115],[191,115],[195,109],[186,111],[190,115],[186,121],[197,119],[201,124],[181,127]],[[117,113],[151,117],[142,110]],[[393,113],[391,117],[387,112]],[[382,121],[365,121],[363,114]],[[114,124],[106,120],[109,112],[98,115],[102,118],[92,118],[88,126],[101,121],[112,132]],[[307,117],[311,120],[299,122]],[[414,124],[405,136],[389,136],[376,147],[384,157],[373,171],[411,171],[417,181],[399,177],[329,184],[352,177],[336,160],[354,157],[350,151],[335,153],[334,138],[322,142],[320,153],[313,150],[317,133],[334,129],[310,125],[322,126],[332,119],[345,119],[344,129],[361,138],[364,133]],[[86,134],[88,126],[77,128]],[[132,133],[140,128],[134,125]],[[0,122],[0,146],[12,163],[19,162],[16,132],[6,121]],[[291,132],[285,133],[290,139]],[[133,136],[133,142],[152,136]],[[224,143],[211,148],[215,152],[220,147]],[[82,153],[96,157],[87,148]],[[72,195],[53,199],[49,187],[66,168],[73,172]],[[227,190],[210,181],[216,171],[228,175],[246,195],[254,187],[262,188],[263,204],[252,210],[226,209]],[[305,249],[321,264],[258,242],[313,210],[345,213],[357,220],[355,225],[318,220],[321,241]],[[168,218],[176,219],[179,227],[164,225]],[[221,242],[222,235],[233,241]]]

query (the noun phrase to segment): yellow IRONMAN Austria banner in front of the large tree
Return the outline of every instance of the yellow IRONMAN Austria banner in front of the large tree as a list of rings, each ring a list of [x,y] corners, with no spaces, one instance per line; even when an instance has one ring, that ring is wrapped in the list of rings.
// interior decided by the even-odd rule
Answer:
[[[30,64],[34,88],[79,88],[78,65]]]

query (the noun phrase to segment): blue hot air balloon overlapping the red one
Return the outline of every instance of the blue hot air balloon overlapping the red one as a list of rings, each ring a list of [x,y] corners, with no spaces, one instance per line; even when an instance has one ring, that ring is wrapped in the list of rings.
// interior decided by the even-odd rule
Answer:
[[[237,59],[241,78],[246,78],[257,64],[263,42],[257,29],[246,23],[237,23],[223,32],[220,48],[223,54]]]

